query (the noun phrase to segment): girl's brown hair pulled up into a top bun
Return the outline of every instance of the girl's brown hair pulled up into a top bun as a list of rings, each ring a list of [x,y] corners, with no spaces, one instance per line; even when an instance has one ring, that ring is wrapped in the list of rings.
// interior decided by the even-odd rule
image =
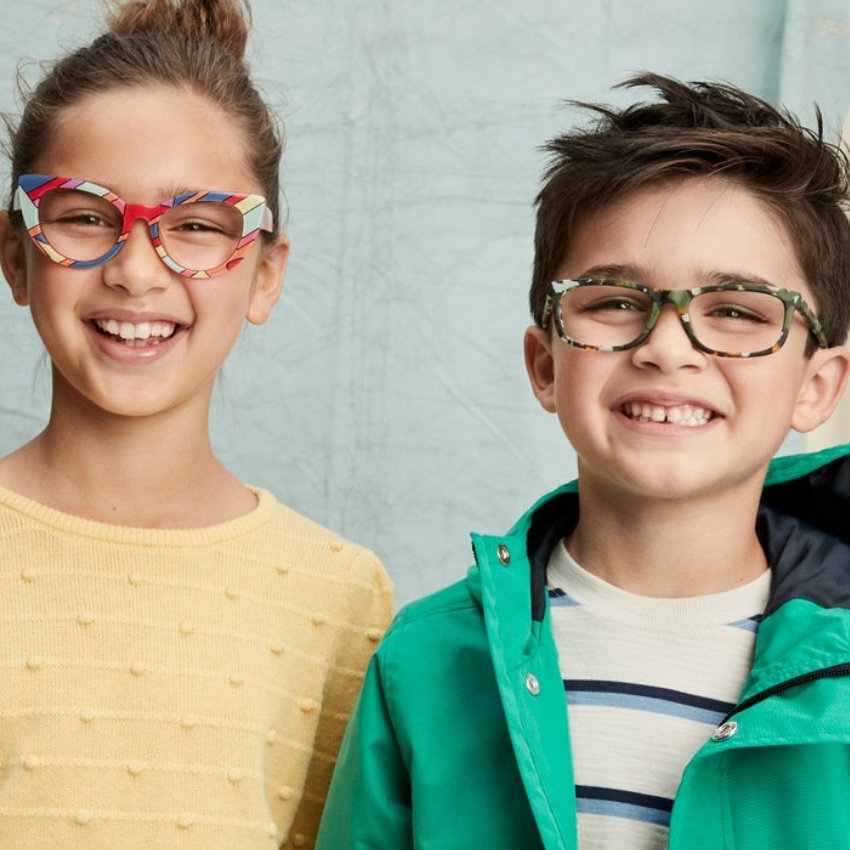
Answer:
[[[153,83],[206,98],[241,126],[247,165],[263,187],[277,229],[283,131],[244,59],[248,0],[108,2],[107,32],[52,64],[32,91],[23,92],[17,126],[7,121],[12,193],[50,145],[64,109],[90,95]]]

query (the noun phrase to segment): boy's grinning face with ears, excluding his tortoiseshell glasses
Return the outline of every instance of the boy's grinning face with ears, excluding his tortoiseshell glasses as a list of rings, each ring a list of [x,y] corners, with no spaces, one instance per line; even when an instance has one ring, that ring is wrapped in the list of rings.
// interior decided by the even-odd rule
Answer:
[[[796,290],[817,311],[779,218],[742,186],[690,177],[586,217],[557,278],[687,289],[730,276]],[[633,349],[576,348],[554,330],[530,328],[525,351],[535,395],[578,455],[582,492],[669,501],[757,493],[789,428],[809,431],[829,416],[848,354],[818,349],[807,359],[808,339],[795,315],[775,354],[714,357],[691,344],[668,305]]]

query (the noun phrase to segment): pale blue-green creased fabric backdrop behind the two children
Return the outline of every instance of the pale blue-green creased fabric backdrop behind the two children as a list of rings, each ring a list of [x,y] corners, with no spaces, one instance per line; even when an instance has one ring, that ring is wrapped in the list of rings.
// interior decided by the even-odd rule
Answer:
[[[88,39],[98,7],[3,10],[0,107],[14,113],[20,60]],[[254,0],[253,11],[249,59],[287,129],[292,257],[275,315],[246,328],[224,369],[215,444],[243,480],[373,548],[403,602],[463,576],[470,528],[503,530],[575,473],[521,348],[538,148],[577,118],[562,101],[622,102],[610,86],[647,69],[726,80],[807,122],[817,101],[840,127],[850,3]],[[8,295],[0,337],[5,453],[43,426],[49,373]]]

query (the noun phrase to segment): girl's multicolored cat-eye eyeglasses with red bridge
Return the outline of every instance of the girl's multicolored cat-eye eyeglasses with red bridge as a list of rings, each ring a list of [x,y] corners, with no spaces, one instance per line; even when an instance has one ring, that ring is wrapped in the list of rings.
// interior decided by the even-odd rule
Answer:
[[[224,274],[245,258],[273,216],[261,195],[185,192],[156,206],[128,204],[88,180],[23,174],[14,209],[36,246],[53,262],[84,269],[111,260],[136,221],[144,221],[159,258],[179,275]]]

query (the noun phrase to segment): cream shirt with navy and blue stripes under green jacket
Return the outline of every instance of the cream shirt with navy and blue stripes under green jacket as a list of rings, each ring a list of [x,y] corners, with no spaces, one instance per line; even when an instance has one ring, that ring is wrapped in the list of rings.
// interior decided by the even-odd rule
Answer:
[[[655,599],[583,570],[548,571],[567,701],[580,850],[664,850],[687,762],[736,704],[770,571],[723,593]]]

